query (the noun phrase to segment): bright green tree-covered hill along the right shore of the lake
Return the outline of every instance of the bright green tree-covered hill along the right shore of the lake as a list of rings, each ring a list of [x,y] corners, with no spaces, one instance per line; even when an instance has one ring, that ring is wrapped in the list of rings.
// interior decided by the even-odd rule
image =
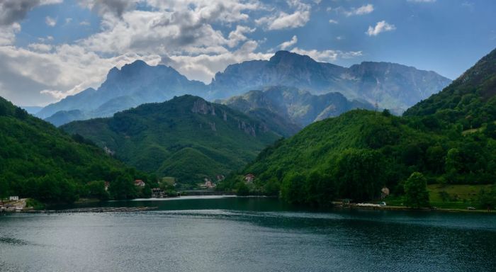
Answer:
[[[427,183],[494,183],[495,162],[493,123],[463,132],[432,115],[402,118],[357,110],[276,142],[219,189],[327,205],[335,198],[377,199],[383,186],[402,196],[415,172]],[[254,174],[253,183],[244,174]]]

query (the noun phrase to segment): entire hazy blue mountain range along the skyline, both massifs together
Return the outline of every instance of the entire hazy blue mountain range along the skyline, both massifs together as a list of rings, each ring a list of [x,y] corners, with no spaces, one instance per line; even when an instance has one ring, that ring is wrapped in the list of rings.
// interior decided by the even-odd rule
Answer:
[[[71,120],[74,115],[63,115],[79,110],[84,118],[107,117],[142,103],[162,102],[183,94],[225,99],[266,86],[292,86],[312,94],[339,92],[349,100],[378,103],[380,108],[402,113],[450,82],[435,72],[400,64],[362,62],[345,68],[287,51],[276,52],[270,60],[232,64],[216,74],[210,85],[188,80],[171,67],[152,67],[136,61],[122,69],[111,69],[97,90],[90,88],[67,96],[46,106],[37,116],[48,118],[62,111],[49,120]]]

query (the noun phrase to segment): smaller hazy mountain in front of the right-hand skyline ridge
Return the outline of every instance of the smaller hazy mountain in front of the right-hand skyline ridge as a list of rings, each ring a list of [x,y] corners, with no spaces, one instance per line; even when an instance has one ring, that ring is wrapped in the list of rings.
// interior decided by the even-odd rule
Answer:
[[[300,128],[312,122],[335,117],[354,108],[373,109],[367,102],[349,101],[342,94],[314,95],[293,87],[272,86],[261,91],[249,91],[242,96],[233,96],[221,103],[239,111],[254,115],[261,110],[280,115]]]

